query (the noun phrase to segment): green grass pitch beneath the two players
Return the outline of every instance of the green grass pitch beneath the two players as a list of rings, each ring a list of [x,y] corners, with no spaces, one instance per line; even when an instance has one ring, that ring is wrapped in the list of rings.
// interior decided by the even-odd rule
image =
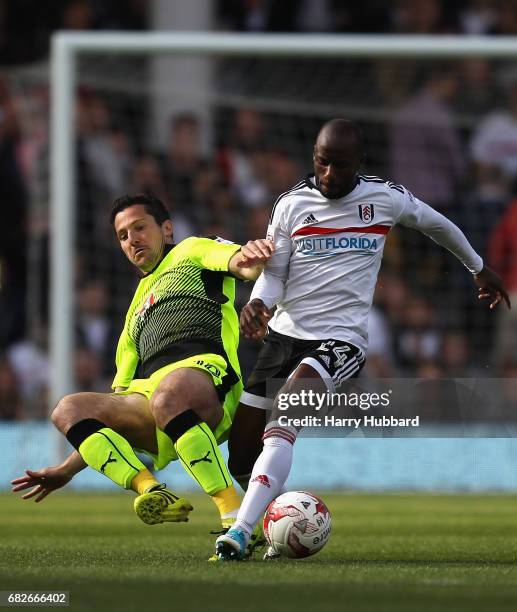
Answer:
[[[210,564],[217,514],[146,526],[126,493],[0,496],[0,590],[67,590],[71,609],[517,609],[517,496],[323,493],[325,549],[302,561]]]

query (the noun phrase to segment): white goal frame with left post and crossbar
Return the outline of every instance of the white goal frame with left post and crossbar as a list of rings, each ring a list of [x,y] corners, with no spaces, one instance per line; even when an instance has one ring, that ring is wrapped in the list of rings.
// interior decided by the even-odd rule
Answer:
[[[80,54],[240,57],[517,58],[517,37],[413,35],[269,35],[209,32],[69,33],[52,37],[50,117],[51,407],[74,391],[73,254],[76,194],[74,107]]]

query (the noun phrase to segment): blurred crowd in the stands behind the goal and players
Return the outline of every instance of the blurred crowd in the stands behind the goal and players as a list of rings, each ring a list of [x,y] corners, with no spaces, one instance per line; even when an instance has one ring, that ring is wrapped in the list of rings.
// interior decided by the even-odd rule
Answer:
[[[6,65],[44,60],[49,33],[59,27],[145,29],[151,3],[133,0],[121,12],[114,8],[118,3],[62,0],[38,22],[40,4],[0,0],[0,57]],[[23,7],[30,20],[23,20]],[[217,18],[221,29],[238,31],[517,33],[517,3],[495,0],[370,0],[358,7],[333,0],[220,0]],[[18,33],[25,28],[26,48],[13,27]],[[389,62],[370,67],[372,99],[385,112],[380,120],[357,117],[366,137],[367,173],[404,184],[458,223],[503,276],[517,305],[517,72],[510,64],[495,70],[487,60],[472,59],[432,64],[404,83],[389,76]],[[48,181],[40,178],[48,174],[48,87],[35,87],[30,97],[30,104],[21,104],[8,72],[0,69],[0,420],[45,417],[51,368],[46,300],[52,228]],[[170,117],[167,145],[152,150],[135,130],[134,117],[131,126],[120,116],[115,120],[109,96],[79,89],[78,389],[109,387],[118,332],[137,282],[107,223],[112,200],[142,191],[162,198],[176,241],[193,234],[236,242],[261,237],[276,197],[311,171],[312,140],[328,118],[315,113],[301,130],[303,116],[252,104],[216,109],[209,126],[184,112]],[[291,135],[303,131],[301,137],[284,138],[280,126],[286,123]],[[202,145],[207,129],[213,134],[208,152]],[[239,287],[239,306],[249,291]],[[517,310],[490,313],[476,294],[468,272],[450,254],[416,232],[391,232],[370,318],[365,375],[515,377]],[[254,342],[241,344],[245,375],[257,349]]]

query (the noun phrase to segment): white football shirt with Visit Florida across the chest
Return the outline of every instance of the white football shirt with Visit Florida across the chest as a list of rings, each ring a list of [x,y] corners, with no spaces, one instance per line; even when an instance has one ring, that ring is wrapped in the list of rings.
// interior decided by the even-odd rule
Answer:
[[[359,175],[348,195],[332,200],[310,175],[275,203],[267,231],[275,252],[250,299],[277,306],[270,327],[281,334],[366,351],[386,236],[397,223],[428,235],[471,273],[483,268],[461,230],[401,185]]]

